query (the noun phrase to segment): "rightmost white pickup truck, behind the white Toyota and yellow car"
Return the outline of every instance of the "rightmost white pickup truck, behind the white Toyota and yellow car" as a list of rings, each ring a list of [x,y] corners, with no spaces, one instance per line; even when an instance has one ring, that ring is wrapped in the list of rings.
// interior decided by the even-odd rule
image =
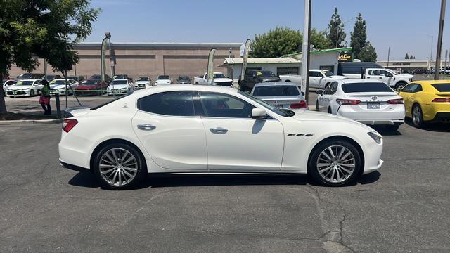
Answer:
[[[361,74],[346,74],[349,78],[361,78]],[[364,79],[376,79],[385,82],[394,89],[401,89],[409,82],[413,81],[412,74],[397,74],[394,70],[384,68],[366,68]]]

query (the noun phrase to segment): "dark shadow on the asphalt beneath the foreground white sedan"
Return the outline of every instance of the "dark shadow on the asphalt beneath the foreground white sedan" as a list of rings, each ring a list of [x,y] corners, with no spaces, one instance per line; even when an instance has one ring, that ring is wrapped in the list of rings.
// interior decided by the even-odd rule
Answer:
[[[360,176],[356,184],[375,183],[380,178],[380,172]],[[87,169],[79,171],[68,182],[72,186],[86,188],[101,188],[95,177]],[[188,186],[274,186],[274,185],[312,185],[321,186],[304,174],[233,174],[233,175],[179,175],[179,174],[150,174],[138,186],[131,190],[142,188],[188,187]]]

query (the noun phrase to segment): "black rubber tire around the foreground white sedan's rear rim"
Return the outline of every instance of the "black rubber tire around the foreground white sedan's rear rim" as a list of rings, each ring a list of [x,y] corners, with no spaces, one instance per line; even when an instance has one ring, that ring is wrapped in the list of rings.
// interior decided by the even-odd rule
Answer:
[[[103,155],[105,155],[105,153],[112,150],[113,148],[120,149],[120,150],[127,150],[129,153],[131,153],[131,155],[134,156],[134,158],[136,160],[136,169],[137,169],[136,174],[134,175],[133,179],[131,179],[129,182],[127,182],[123,186],[114,185],[114,184],[106,181],[106,179],[104,179],[103,176],[101,175],[101,169],[100,169],[101,158],[103,157]],[[101,183],[101,186],[103,186],[104,188],[109,188],[112,190],[122,190],[122,189],[133,188],[142,179],[144,179],[145,176],[147,175],[147,167],[146,167],[146,162],[145,162],[144,157],[142,157],[141,153],[139,153],[139,151],[136,150],[136,148],[131,147],[131,145],[127,145],[124,143],[112,143],[112,144],[106,145],[105,147],[101,148],[101,150],[98,150],[98,152],[96,152],[96,154],[94,154],[94,155],[95,155],[95,158],[94,158],[94,162],[92,164],[91,169],[93,169],[94,175],[96,176],[97,181],[99,183]],[[119,162],[122,163],[123,161],[119,161]],[[117,164],[115,164],[113,166],[117,166]],[[122,170],[124,171],[124,169],[122,169]],[[112,173],[114,173],[114,172],[115,171],[113,171]],[[125,175],[124,173],[122,173],[122,174]]]

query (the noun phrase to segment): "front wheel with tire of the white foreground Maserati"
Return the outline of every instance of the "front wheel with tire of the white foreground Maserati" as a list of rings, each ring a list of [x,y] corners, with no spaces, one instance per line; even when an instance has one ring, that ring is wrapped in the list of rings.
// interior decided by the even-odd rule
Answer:
[[[361,156],[352,143],[328,141],[314,149],[308,173],[325,186],[343,186],[356,180]]]

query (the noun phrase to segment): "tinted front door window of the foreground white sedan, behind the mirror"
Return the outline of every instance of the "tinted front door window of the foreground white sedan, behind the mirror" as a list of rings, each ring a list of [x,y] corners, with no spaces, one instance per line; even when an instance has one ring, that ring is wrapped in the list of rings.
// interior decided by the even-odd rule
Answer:
[[[255,106],[234,96],[201,92],[200,100],[207,117],[251,118]]]

